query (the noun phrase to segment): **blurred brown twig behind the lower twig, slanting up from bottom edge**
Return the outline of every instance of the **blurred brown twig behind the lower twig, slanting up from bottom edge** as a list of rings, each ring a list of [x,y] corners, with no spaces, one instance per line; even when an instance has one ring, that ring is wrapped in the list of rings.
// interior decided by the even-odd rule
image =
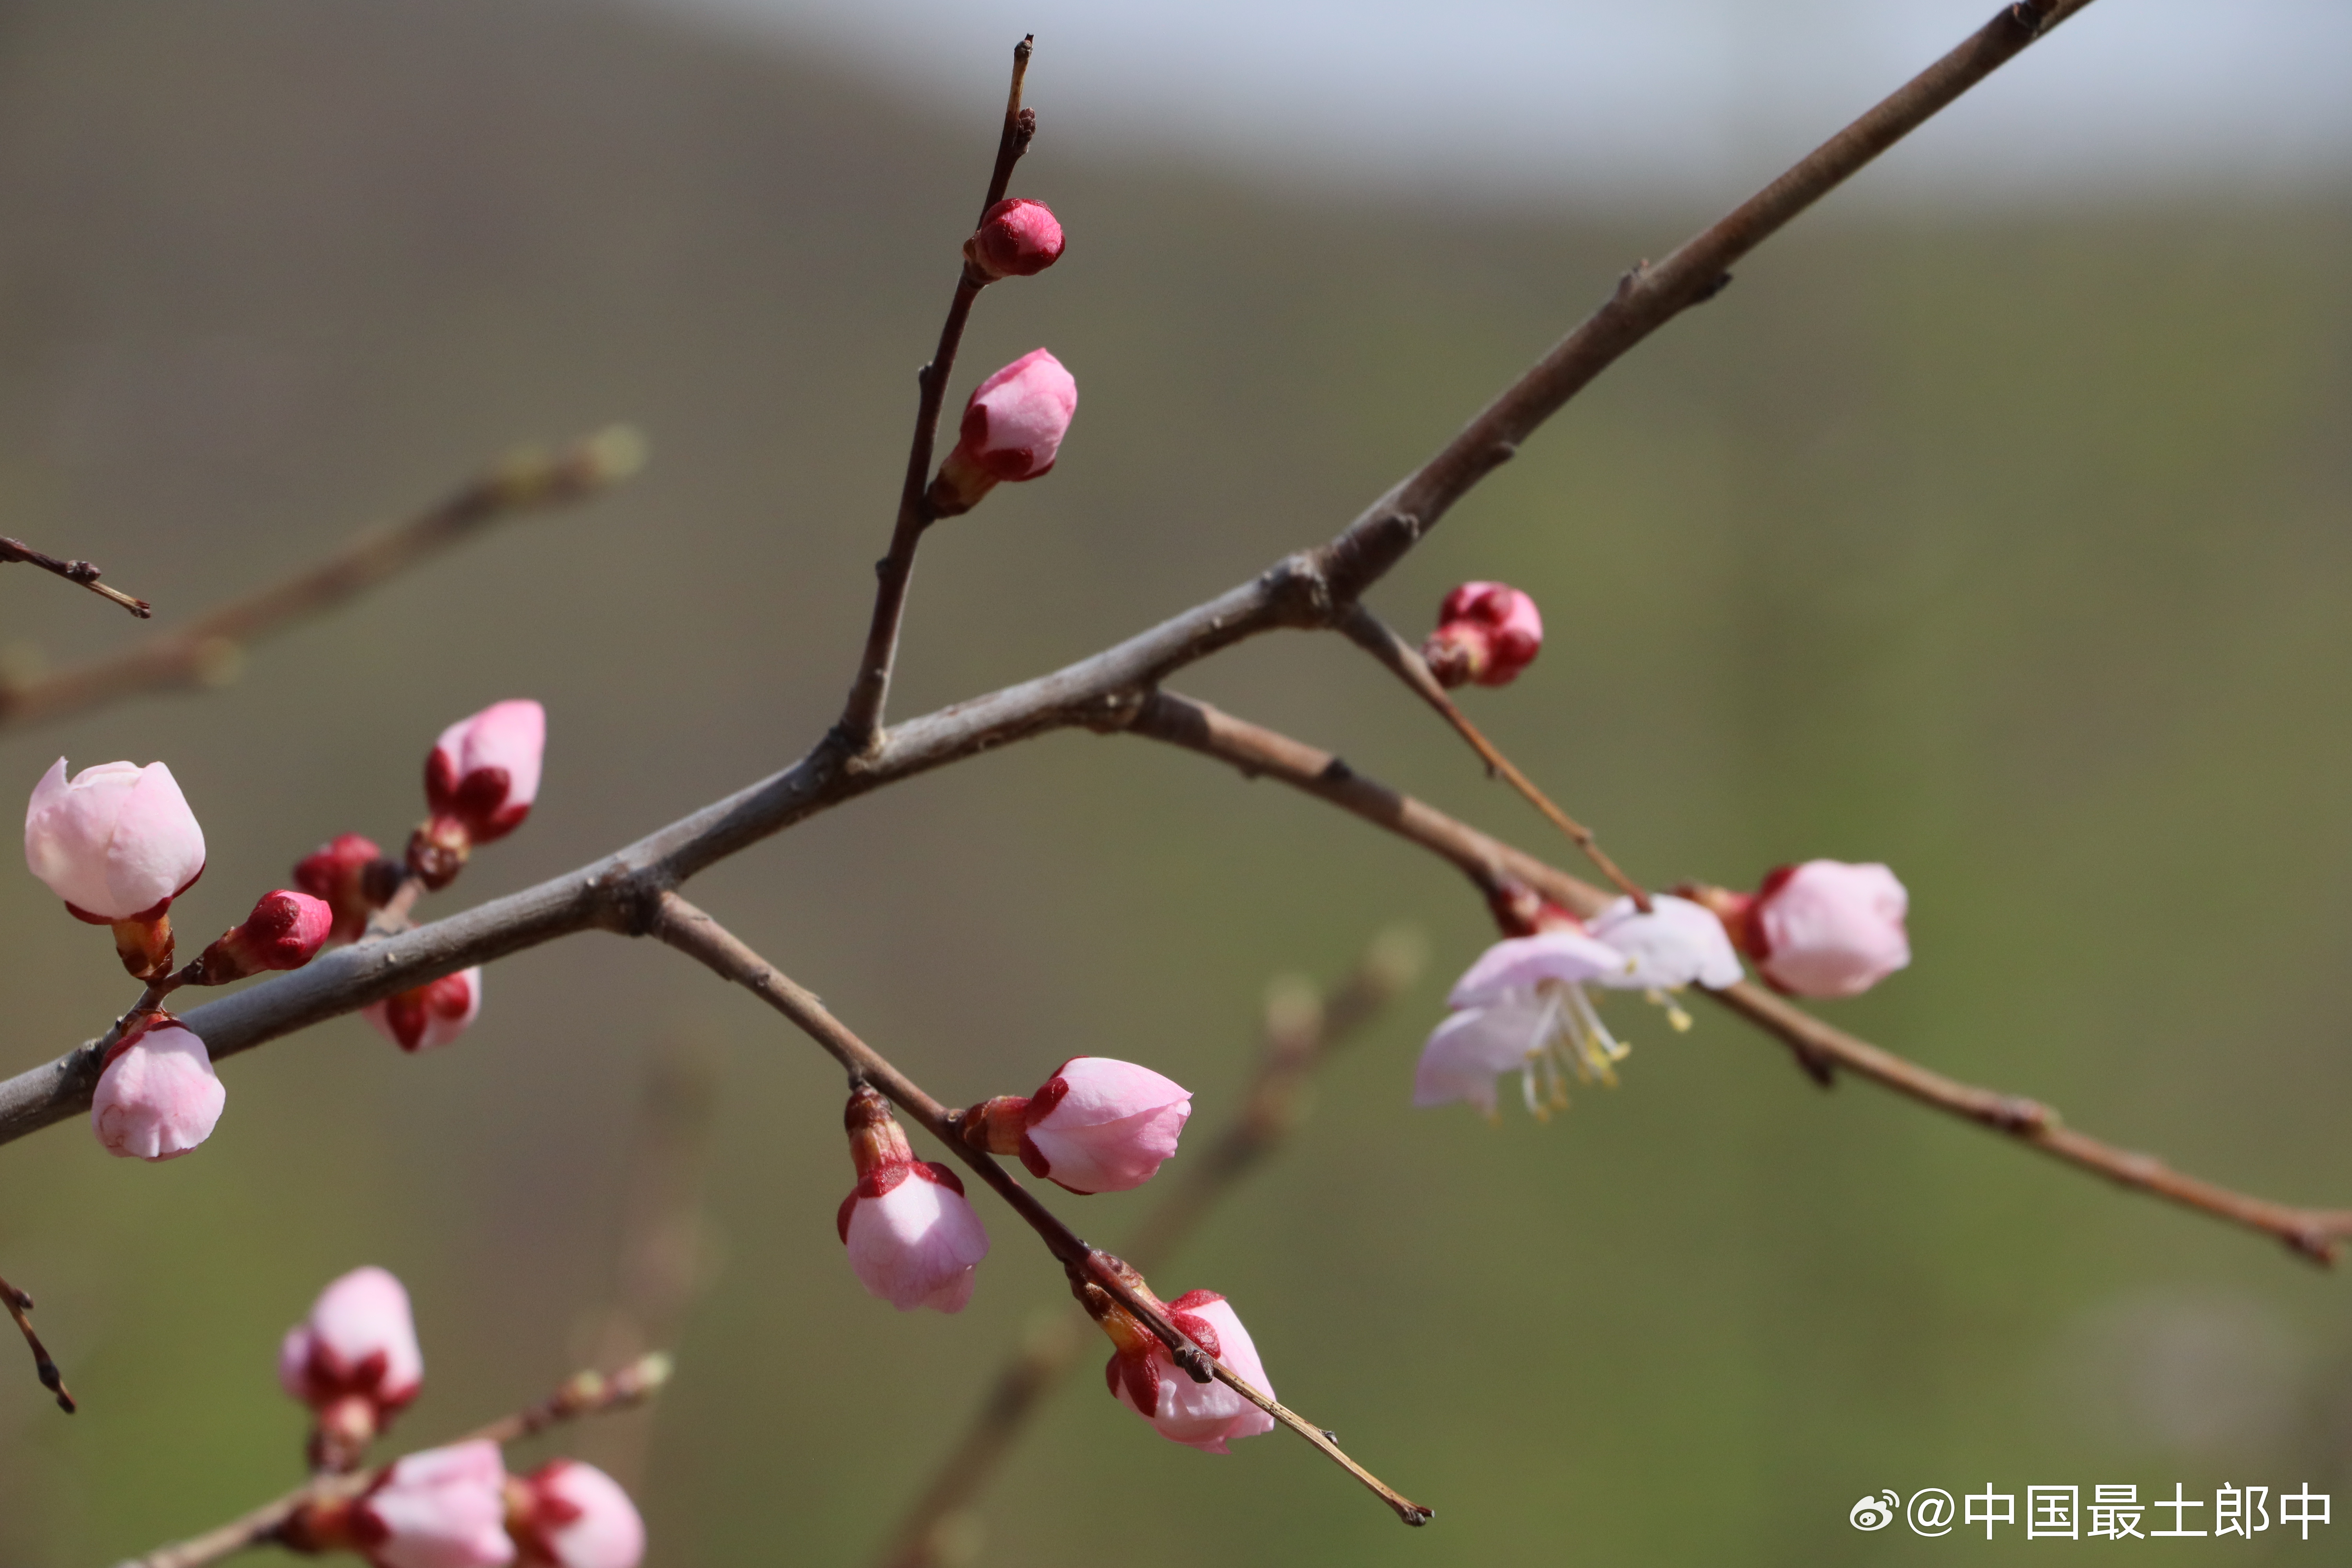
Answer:
[[[1150,1274],[1200,1227],[1209,1211],[1232,1192],[1303,1114],[1308,1077],[1331,1051],[1371,1023],[1399,990],[1421,971],[1421,940],[1390,931],[1364,950],[1345,980],[1327,994],[1277,987],[1265,1001],[1263,1048],[1249,1081],[1242,1112],[1183,1168],[1155,1185],[1174,1182],[1143,1215],[1143,1225],[1124,1248],[1124,1258]],[[995,1476],[1021,1439],[1037,1406],[1061,1382],[1080,1352],[1096,1342],[1084,1314],[1040,1321],[1007,1356],[988,1396],[974,1413],[964,1436],[931,1472],[931,1483],[898,1521],[891,1547],[880,1556],[887,1568],[943,1568],[943,1544],[955,1523]]]

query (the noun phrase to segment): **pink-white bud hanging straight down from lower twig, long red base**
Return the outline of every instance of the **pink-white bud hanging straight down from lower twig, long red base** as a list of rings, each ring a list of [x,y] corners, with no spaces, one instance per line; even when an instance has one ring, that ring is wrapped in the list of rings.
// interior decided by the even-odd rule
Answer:
[[[962,1312],[988,1255],[988,1232],[964,1199],[964,1182],[948,1166],[915,1159],[882,1095],[863,1084],[849,1095],[844,1124],[858,1185],[842,1199],[835,1229],[849,1267],[868,1295],[898,1312]]]

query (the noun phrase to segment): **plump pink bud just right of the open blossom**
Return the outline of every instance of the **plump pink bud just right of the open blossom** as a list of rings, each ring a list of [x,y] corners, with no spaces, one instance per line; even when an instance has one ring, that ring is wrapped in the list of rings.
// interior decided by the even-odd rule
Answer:
[[[1726,898],[1757,973],[1792,997],[1860,997],[1910,964],[1910,893],[1884,865],[1783,865],[1752,898]]]

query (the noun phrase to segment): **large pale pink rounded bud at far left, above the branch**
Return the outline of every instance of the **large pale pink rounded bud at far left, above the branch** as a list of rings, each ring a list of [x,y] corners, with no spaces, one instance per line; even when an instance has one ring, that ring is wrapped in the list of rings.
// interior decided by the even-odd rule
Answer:
[[[160,762],[66,780],[59,757],[24,813],[24,863],[94,926],[160,917],[205,872],[205,830]]]

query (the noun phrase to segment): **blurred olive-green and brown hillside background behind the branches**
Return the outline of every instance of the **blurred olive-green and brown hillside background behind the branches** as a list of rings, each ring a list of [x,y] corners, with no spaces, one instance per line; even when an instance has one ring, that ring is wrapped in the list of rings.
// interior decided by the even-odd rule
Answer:
[[[898,712],[1322,538],[1705,216],[1108,167],[1051,134],[1049,73],[1033,101],[1016,193],[1070,254],[990,292],[955,395],[1049,343],[1084,407],[1051,480],[927,548]],[[654,463],[256,649],[228,689],[0,733],[0,780],[167,759],[212,846],[198,938],[334,832],[397,842],[433,733],[494,698],[546,701],[548,783],[433,910],[783,766],[849,675],[990,143],[823,59],[553,0],[7,7],[0,531],[169,623],[517,440],[630,418]],[[2347,256],[2343,190],[1832,200],[1378,607],[1418,630],[1465,576],[1543,599],[1548,654],[1477,717],[1649,882],[1893,863],[1917,964],[1837,1023],[2216,1180],[2352,1201]],[[0,592],[19,675],[141,635],[33,574]],[[1566,856],[1338,639],[1181,684]],[[1823,1095],[1715,1013],[1670,1037],[1618,1004],[1625,1086],[1550,1126],[1411,1112],[1484,910],[1272,785],[1051,736],[691,896],[941,1098],[1112,1053],[1192,1086],[1197,1131],[1247,1081],[1272,971],[1336,976],[1397,919],[1430,936],[1416,992],[1155,1284],[1225,1291],[1284,1399],[1437,1523],[1399,1530],[1287,1436],[1164,1443],[1089,1352],[967,1533],[985,1563],[1999,1561],[2020,1547],[1846,1526],[1863,1493],[1985,1481],[2312,1481],[2352,1507],[2345,1284],[2260,1239],[1863,1084]],[[5,1070],[129,999],[31,877],[0,879],[0,950]],[[400,1439],[550,1387],[614,1291],[673,1048],[724,1088],[710,1288],[673,1392],[628,1418],[649,1561],[863,1561],[1058,1272],[983,1201],[969,1312],[868,1300],[833,1237],[837,1072],[604,936],[499,964],[447,1053],[339,1020],[233,1060],[193,1159],[111,1161],[80,1126],[0,1150],[0,1272],[85,1406],[61,1418],[0,1347],[0,1561],[115,1561],[296,1481],[275,1342],[360,1262],[416,1298],[430,1375]],[[1148,1199],[1065,1211],[1115,1244]],[[2343,1561],[2345,1530],[2169,1554]]]

